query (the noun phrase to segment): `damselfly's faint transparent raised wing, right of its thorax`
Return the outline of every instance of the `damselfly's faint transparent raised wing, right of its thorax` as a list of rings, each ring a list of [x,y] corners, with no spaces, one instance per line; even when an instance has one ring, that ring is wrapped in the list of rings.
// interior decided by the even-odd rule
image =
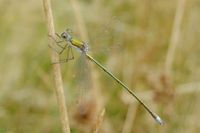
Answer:
[[[124,38],[123,28],[120,27],[120,24],[117,17],[112,17],[107,22],[102,22],[98,27],[91,28],[92,31],[88,31],[90,36],[89,50],[98,55],[108,55],[111,52],[120,51]]]

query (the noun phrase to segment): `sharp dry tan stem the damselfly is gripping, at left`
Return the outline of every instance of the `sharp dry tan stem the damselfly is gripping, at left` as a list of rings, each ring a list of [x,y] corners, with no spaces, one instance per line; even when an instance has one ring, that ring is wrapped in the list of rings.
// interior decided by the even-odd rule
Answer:
[[[47,23],[47,28],[48,28],[48,35],[54,36],[55,31],[54,31],[53,15],[52,15],[50,1],[43,0],[43,6],[44,6],[44,13],[45,13],[46,23]],[[49,37],[49,45],[52,46],[53,43],[54,43],[53,40]],[[58,54],[55,51],[51,50],[51,61],[57,62],[58,60],[59,60]],[[53,64],[53,78],[54,78],[54,87],[56,91],[57,103],[58,103],[59,111],[60,111],[62,130],[63,130],[63,133],[70,133],[60,64],[58,63]]]

